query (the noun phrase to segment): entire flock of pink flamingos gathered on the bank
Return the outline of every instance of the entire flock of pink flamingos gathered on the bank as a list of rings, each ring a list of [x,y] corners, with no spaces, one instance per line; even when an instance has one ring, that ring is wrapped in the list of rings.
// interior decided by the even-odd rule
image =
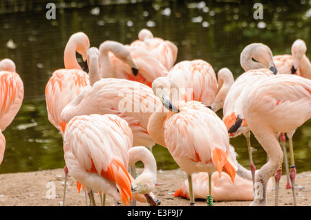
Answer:
[[[243,72],[234,79],[228,68],[218,73],[202,59],[176,63],[177,46],[142,29],[129,45],[106,40],[91,46],[86,34],[73,34],[64,50],[64,68],[46,84],[48,120],[64,140],[65,177],[84,186],[91,204],[94,193],[115,200],[159,206],[153,194],[157,166],[153,146],[167,148],[187,180],[175,197],[213,201],[252,201],[268,206],[272,176],[279,179],[285,134],[290,146],[288,185],[296,202],[292,137],[311,118],[311,64],[307,47],[294,41],[292,54],[273,56],[263,43],[241,52]],[[77,62],[81,54],[84,66]],[[6,139],[2,132],[23,101],[23,81],[10,59],[0,61],[0,163]],[[223,109],[223,118],[216,112]],[[292,114],[299,112],[299,114]],[[250,133],[267,152],[267,163],[256,170]],[[247,139],[249,170],[238,163],[230,138]],[[283,150],[282,150],[283,149]],[[286,156],[285,156],[286,157]],[[135,163],[144,169],[138,177]],[[287,163],[287,161],[285,161]],[[64,205],[66,183],[64,188]]]

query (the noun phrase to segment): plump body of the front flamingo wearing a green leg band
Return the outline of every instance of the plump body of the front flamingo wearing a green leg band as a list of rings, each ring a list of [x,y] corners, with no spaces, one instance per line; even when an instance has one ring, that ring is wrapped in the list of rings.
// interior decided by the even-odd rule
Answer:
[[[223,121],[197,101],[180,103],[178,109],[164,125],[165,143],[178,166],[187,174],[225,170],[234,181],[236,156]]]

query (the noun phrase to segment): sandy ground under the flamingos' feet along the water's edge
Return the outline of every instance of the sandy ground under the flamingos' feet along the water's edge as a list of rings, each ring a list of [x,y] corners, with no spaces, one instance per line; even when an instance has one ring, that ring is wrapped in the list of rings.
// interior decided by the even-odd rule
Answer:
[[[153,191],[160,199],[160,206],[189,206],[187,199],[173,197],[173,193],[185,181],[182,170],[158,170],[157,182]],[[279,206],[293,206],[292,190],[285,189],[286,178],[280,182]],[[311,206],[311,172],[296,174],[297,202],[299,206]],[[36,172],[19,172],[0,175],[0,206],[62,206],[64,197],[64,170],[41,170]],[[53,194],[53,192],[55,192]],[[274,206],[274,190],[268,197],[269,206]],[[52,198],[51,198],[52,197]],[[97,205],[100,205],[100,194],[95,194]],[[249,206],[251,201],[221,201],[214,206]],[[89,204],[89,203],[88,203]],[[86,206],[84,191],[77,191],[73,177],[68,177],[66,206]],[[106,198],[106,206],[114,206],[112,198]],[[147,206],[137,203],[137,206]],[[196,206],[207,206],[203,200],[196,200]]]

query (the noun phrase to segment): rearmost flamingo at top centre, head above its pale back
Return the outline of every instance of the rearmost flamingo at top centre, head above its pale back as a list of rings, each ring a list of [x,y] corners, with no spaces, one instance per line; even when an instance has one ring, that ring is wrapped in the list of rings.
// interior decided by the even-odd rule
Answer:
[[[153,55],[167,70],[171,70],[177,59],[178,48],[171,41],[153,37],[150,30],[143,28],[138,33],[138,40],[130,44],[134,48],[143,48]]]

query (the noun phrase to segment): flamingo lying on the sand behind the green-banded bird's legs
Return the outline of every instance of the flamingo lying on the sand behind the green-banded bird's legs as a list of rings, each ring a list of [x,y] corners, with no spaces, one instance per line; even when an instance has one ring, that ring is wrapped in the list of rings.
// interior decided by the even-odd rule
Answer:
[[[209,175],[206,172],[192,174],[193,190],[195,199],[206,199],[209,192]],[[234,184],[229,175],[225,172],[218,176],[217,172],[211,174],[211,192],[215,201],[252,201],[254,200],[254,191],[252,179],[245,179],[236,173]],[[268,194],[272,191],[272,179],[268,183]],[[185,180],[174,193],[174,197],[183,197],[189,199],[188,182]]]

